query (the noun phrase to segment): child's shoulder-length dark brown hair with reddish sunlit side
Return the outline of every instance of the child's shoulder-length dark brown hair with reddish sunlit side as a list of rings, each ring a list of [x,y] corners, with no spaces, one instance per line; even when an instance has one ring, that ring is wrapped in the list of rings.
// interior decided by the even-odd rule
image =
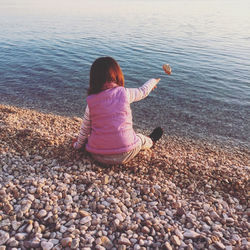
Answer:
[[[112,57],[100,57],[90,69],[88,95],[102,91],[106,82],[115,82],[124,87],[124,76],[119,64]]]

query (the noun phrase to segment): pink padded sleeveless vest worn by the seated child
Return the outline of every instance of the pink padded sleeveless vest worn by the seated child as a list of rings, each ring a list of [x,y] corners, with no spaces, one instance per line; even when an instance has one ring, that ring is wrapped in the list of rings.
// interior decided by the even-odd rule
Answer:
[[[106,89],[87,98],[91,134],[87,151],[96,154],[120,154],[139,145],[132,127],[130,102],[124,87]]]

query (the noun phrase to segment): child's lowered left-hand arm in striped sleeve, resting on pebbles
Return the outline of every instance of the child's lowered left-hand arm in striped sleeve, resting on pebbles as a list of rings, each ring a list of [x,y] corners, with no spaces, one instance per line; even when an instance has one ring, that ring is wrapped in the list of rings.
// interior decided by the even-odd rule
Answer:
[[[79,136],[77,137],[77,141],[73,144],[73,147],[75,149],[80,149],[87,142],[90,130],[91,130],[91,120],[89,117],[89,107],[87,105],[83,116]]]

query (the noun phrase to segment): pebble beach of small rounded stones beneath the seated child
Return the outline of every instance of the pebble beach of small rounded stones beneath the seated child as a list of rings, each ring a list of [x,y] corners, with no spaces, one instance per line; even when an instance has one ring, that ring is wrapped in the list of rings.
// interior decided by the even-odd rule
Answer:
[[[80,123],[0,105],[0,250],[250,248],[249,149],[165,137],[107,167]]]

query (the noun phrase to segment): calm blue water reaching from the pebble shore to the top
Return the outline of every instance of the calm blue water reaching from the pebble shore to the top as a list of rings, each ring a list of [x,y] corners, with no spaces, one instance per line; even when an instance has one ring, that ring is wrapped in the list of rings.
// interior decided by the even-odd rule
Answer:
[[[128,87],[162,79],[135,127],[250,146],[249,1],[103,2],[2,0],[0,102],[82,116],[108,55]]]

